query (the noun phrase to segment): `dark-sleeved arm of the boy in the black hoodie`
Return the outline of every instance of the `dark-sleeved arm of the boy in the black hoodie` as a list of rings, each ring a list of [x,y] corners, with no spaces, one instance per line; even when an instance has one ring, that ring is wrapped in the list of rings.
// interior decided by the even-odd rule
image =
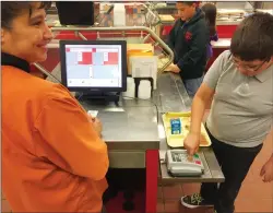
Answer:
[[[200,27],[192,35],[190,50],[177,62],[181,72],[191,72],[199,59],[206,52],[209,37],[205,32],[205,28]]]

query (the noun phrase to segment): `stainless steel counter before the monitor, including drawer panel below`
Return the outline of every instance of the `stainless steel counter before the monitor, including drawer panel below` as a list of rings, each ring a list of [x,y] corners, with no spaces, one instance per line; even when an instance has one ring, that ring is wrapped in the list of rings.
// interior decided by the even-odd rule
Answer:
[[[111,168],[145,168],[146,150],[158,150],[157,111],[151,102],[121,100],[120,106],[94,106],[98,110]]]

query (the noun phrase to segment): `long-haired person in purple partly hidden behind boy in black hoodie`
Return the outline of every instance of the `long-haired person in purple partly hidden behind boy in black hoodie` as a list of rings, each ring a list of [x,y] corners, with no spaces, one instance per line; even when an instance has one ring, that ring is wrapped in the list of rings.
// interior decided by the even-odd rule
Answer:
[[[205,3],[202,5],[201,10],[205,14],[205,21],[210,28],[210,43],[207,45],[207,61],[213,56],[212,45],[211,42],[217,42],[218,40],[218,34],[216,32],[216,15],[217,15],[217,9],[213,3]]]

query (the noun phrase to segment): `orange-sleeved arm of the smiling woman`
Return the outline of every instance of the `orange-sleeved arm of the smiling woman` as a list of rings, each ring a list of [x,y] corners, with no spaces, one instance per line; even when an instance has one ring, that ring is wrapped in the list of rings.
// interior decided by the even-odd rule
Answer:
[[[109,166],[107,146],[67,91],[59,90],[48,98],[34,128],[37,141],[43,141],[36,145],[38,156],[79,176],[94,180],[105,177]]]

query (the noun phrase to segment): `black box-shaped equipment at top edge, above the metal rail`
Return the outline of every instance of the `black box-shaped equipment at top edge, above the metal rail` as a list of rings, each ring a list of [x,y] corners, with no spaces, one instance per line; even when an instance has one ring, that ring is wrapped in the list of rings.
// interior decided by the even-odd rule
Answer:
[[[56,1],[56,8],[62,25],[94,25],[92,1]]]

